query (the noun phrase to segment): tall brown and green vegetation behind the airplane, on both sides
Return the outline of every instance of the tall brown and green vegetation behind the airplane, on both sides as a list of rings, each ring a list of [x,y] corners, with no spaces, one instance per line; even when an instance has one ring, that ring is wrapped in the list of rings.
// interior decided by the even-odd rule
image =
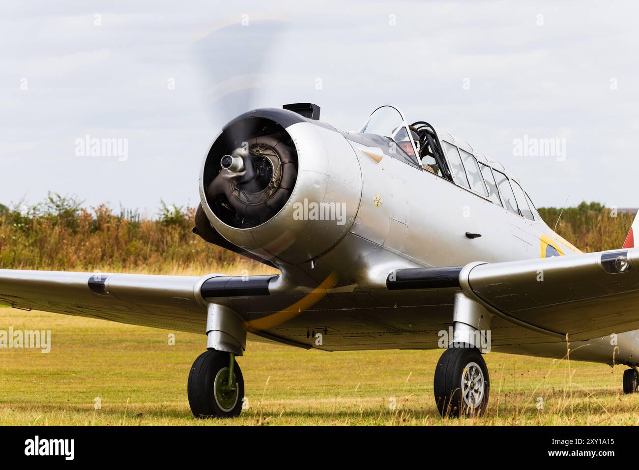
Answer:
[[[561,210],[541,208],[555,226]],[[114,212],[106,205],[83,207],[73,197],[50,193],[37,205],[0,205],[0,268],[204,274],[274,270],[191,233],[195,209],[161,201],[157,218],[135,210]],[[616,214],[599,203],[566,208],[557,232],[583,251],[622,246],[633,215]]]

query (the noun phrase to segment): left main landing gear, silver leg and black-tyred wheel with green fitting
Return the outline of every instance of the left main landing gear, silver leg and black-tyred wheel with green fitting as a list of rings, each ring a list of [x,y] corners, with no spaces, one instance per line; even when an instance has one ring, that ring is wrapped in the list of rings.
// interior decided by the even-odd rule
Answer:
[[[242,356],[246,327],[234,311],[209,304],[205,352],[189,372],[189,406],[196,418],[232,418],[242,412],[244,378],[235,356]]]

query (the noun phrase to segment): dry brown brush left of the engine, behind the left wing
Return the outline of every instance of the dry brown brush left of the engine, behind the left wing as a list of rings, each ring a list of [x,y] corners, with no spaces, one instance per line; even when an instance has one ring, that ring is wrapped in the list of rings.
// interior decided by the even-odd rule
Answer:
[[[72,198],[27,210],[0,212],[0,268],[204,274],[219,270],[275,272],[261,263],[207,244],[191,233],[194,208],[162,205],[157,219],[114,214]]]

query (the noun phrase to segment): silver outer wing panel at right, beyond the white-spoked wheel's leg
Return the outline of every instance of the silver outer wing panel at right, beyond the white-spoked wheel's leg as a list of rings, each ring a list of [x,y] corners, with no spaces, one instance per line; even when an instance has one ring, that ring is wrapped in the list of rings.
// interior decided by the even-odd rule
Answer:
[[[459,283],[500,317],[572,340],[639,329],[639,249],[476,263]]]

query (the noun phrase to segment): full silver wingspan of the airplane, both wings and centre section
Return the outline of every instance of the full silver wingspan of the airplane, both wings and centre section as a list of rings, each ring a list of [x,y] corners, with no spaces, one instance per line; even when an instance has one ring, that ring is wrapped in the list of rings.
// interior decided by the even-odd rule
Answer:
[[[588,340],[639,329],[636,248],[397,270],[387,288],[366,295],[326,295],[330,279],[309,294],[270,295],[269,283],[277,277],[0,270],[0,304],[204,334],[206,304],[215,301],[240,313],[259,340],[311,347],[309,330],[337,327],[342,336],[332,333],[325,346],[330,350],[391,343],[433,347],[436,331],[450,321],[452,296],[459,289],[506,324],[528,327],[538,336]]]

